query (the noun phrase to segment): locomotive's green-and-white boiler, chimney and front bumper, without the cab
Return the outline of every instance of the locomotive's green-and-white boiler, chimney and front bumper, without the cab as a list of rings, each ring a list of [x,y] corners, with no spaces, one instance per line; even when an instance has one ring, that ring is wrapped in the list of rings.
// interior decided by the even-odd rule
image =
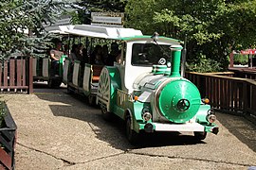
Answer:
[[[153,73],[137,79],[135,114],[141,115],[134,129],[153,131],[192,131],[203,140],[206,132],[218,133],[216,117],[204,103],[197,87],[179,74],[181,46],[172,46],[172,68],[155,66]],[[138,107],[138,106],[141,107]],[[138,117],[135,115],[135,117]],[[136,128],[138,127],[138,128]]]

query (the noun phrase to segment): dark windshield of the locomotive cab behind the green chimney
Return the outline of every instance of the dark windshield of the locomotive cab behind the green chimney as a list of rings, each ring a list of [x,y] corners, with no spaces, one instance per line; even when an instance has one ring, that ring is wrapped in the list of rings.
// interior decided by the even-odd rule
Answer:
[[[170,61],[171,50],[168,44],[134,43],[132,65],[165,65]]]

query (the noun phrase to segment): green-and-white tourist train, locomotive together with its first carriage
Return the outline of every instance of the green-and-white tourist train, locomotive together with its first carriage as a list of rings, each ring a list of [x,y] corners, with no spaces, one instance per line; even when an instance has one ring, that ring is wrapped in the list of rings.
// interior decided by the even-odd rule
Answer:
[[[218,133],[216,117],[196,86],[180,75],[182,45],[178,40],[144,36],[139,30],[72,26],[68,34],[121,44],[114,66],[64,61],[63,81],[69,92],[81,93],[101,107],[104,119],[116,114],[126,125],[129,142],[141,131],[191,131],[197,140]]]

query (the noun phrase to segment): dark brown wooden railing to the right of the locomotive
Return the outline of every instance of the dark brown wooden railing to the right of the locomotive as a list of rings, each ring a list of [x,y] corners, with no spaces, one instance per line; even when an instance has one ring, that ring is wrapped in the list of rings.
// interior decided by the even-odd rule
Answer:
[[[220,76],[221,75],[221,76]],[[232,77],[234,73],[186,73],[199,89],[202,97],[208,97],[217,110],[256,117],[256,81]]]

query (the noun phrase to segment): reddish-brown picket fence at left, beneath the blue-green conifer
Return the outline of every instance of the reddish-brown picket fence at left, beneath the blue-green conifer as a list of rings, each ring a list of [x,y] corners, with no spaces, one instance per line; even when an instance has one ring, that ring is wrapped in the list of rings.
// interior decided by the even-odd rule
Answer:
[[[0,61],[0,92],[33,92],[31,58],[16,58]]]

